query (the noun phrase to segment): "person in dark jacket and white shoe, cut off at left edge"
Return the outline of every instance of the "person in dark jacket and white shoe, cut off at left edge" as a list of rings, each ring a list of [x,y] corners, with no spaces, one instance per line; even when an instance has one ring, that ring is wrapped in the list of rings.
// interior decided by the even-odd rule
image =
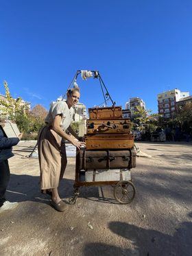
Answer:
[[[5,191],[10,181],[8,159],[14,156],[12,146],[19,143],[22,136],[23,134],[21,133],[18,138],[8,138],[3,131],[3,124],[0,125],[0,213],[18,206],[18,202],[9,202],[5,199]]]

